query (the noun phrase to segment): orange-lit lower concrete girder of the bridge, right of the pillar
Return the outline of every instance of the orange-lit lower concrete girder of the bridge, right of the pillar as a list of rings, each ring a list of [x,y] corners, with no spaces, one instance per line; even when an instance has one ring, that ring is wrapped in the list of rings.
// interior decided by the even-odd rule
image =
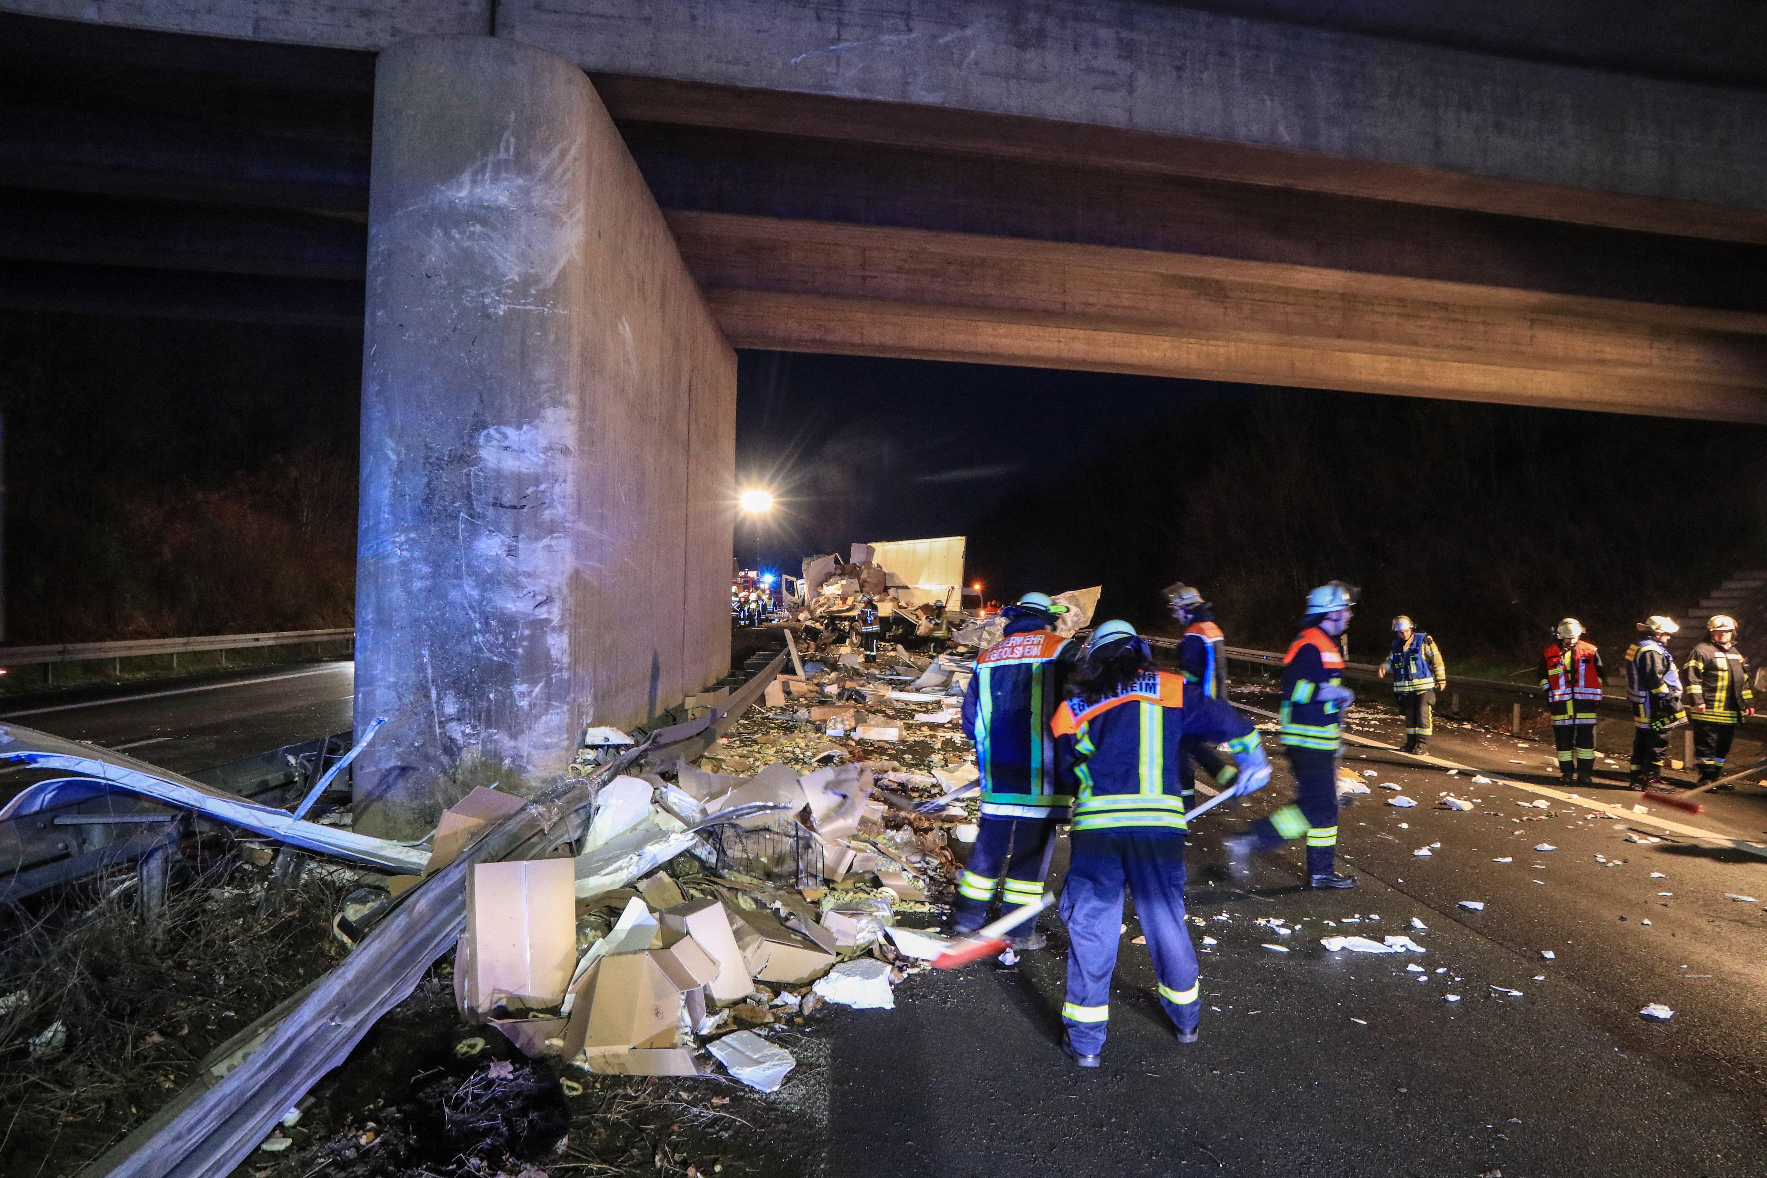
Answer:
[[[737,346],[1767,420],[1767,314],[670,214]]]

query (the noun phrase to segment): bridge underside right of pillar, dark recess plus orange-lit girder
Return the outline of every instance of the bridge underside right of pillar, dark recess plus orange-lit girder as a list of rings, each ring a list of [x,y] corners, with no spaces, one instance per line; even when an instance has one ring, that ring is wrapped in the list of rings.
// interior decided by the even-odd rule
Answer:
[[[595,81],[739,348],[1767,420],[1767,214]]]

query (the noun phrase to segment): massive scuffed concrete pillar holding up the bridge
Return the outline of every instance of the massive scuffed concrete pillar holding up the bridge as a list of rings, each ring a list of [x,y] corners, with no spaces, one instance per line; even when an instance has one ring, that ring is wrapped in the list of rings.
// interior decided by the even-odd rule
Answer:
[[[581,69],[380,57],[355,825],[542,786],[728,668],[735,353]]]

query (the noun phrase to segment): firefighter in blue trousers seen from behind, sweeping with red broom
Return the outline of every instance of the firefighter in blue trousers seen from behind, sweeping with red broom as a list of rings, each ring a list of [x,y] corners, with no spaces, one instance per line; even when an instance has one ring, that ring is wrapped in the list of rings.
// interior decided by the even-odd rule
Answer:
[[[1186,735],[1225,744],[1239,761],[1237,789],[1249,793],[1270,779],[1258,733],[1225,701],[1156,671],[1152,650],[1127,622],[1094,632],[1051,731],[1062,784],[1074,791],[1073,860],[1062,887],[1073,941],[1062,1049],[1080,1067],[1099,1065],[1126,885],[1154,957],[1159,1005],[1179,1042],[1196,1042],[1202,1001],[1184,924],[1187,823],[1177,752]]]

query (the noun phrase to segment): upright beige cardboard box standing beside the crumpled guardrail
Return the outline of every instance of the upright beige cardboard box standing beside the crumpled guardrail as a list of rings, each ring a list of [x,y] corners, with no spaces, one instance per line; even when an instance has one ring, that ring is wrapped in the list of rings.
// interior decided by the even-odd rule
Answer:
[[[475,1014],[557,1007],[576,966],[576,864],[530,858],[466,872],[472,941],[465,1005]]]

